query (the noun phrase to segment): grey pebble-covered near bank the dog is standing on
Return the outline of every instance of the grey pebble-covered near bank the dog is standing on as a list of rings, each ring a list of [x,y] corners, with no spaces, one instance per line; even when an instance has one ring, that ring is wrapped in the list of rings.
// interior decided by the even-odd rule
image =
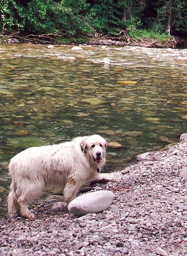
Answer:
[[[187,255],[186,156],[187,134],[180,143],[138,156],[115,181],[96,183],[91,191],[115,194],[102,213],[77,218],[65,202],[42,209],[38,200],[35,220],[2,218],[0,255]]]

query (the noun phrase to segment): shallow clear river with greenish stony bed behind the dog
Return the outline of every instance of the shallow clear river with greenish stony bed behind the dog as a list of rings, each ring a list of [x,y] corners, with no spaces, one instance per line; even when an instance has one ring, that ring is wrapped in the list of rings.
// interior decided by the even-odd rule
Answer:
[[[107,149],[112,172],[187,132],[187,50],[54,47],[0,45],[1,192],[27,147],[98,133],[120,143]]]

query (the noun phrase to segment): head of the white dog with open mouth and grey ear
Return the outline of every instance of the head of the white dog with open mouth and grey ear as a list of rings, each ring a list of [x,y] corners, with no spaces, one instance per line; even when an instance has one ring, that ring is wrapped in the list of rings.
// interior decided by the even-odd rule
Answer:
[[[103,166],[106,162],[106,147],[106,140],[96,134],[85,137],[81,142],[82,152],[98,167]]]

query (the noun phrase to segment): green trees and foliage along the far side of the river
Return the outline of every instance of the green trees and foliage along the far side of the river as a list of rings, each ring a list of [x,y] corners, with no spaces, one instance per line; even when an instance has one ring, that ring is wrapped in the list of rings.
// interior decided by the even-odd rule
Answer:
[[[187,35],[185,0],[0,0],[0,30],[76,35],[127,29],[132,37],[163,38],[169,13],[171,33]]]

